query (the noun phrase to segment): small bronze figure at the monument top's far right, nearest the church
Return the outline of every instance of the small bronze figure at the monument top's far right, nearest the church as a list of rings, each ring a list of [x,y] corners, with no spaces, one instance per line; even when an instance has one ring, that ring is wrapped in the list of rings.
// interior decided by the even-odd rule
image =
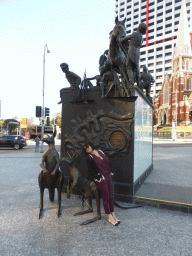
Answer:
[[[146,96],[151,100],[150,97],[150,90],[151,90],[151,83],[155,83],[154,78],[150,73],[148,73],[148,69],[146,66],[143,67],[143,73],[140,77],[140,87],[141,90],[146,89]]]

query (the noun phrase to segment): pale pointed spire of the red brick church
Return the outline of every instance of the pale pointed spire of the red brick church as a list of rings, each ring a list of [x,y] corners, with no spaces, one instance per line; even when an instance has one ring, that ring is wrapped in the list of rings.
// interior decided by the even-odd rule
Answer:
[[[182,0],[175,55],[191,54],[190,33],[185,0]]]

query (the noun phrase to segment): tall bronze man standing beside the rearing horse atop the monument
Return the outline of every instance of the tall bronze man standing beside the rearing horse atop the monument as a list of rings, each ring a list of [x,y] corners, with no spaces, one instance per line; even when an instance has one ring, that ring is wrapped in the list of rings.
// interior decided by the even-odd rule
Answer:
[[[136,32],[133,32],[131,35],[128,35],[124,38],[119,38],[120,43],[129,41],[129,49],[126,58],[126,69],[129,77],[130,83],[134,84],[134,74],[137,81],[137,86],[140,87],[140,68],[139,68],[139,59],[140,59],[140,48],[143,43],[143,34],[147,30],[147,25],[145,23],[140,23]]]

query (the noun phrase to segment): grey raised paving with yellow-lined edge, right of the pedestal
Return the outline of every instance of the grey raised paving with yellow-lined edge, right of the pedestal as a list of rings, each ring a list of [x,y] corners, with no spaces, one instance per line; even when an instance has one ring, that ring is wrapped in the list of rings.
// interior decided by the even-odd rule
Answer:
[[[152,173],[135,202],[192,213],[192,140],[154,139]]]

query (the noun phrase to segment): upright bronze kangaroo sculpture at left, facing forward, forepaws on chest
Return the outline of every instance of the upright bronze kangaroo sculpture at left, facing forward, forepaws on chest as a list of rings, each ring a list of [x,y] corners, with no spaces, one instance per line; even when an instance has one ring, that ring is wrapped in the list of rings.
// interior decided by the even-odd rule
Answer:
[[[49,200],[53,202],[55,195],[55,188],[58,192],[57,200],[57,217],[60,215],[61,208],[61,189],[64,183],[64,177],[62,172],[59,170],[60,159],[57,150],[55,149],[54,138],[56,136],[56,130],[54,131],[51,137],[43,139],[43,142],[46,142],[49,145],[49,148],[44,152],[42,156],[42,161],[40,163],[41,168],[43,169],[38,176],[39,188],[40,188],[40,205],[39,205],[39,215],[41,217],[43,211],[43,194],[44,189],[49,190]]]

